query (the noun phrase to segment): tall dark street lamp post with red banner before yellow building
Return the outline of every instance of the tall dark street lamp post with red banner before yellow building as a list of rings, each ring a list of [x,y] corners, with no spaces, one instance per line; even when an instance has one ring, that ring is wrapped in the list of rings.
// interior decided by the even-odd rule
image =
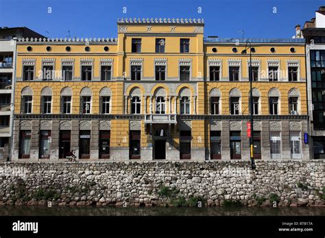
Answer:
[[[246,42],[245,49],[241,51],[242,54],[246,55],[248,49],[250,49],[250,67],[248,72],[248,78],[250,79],[250,162],[252,166],[252,170],[255,170],[256,165],[254,162],[254,143],[253,143],[253,135],[254,135],[254,128],[253,128],[253,92],[252,92],[252,44],[249,41]]]

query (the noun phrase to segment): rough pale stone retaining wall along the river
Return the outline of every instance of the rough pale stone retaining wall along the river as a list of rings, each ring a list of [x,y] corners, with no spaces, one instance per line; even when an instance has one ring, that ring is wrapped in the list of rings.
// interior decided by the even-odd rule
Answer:
[[[324,161],[0,163],[0,204],[324,205]]]

